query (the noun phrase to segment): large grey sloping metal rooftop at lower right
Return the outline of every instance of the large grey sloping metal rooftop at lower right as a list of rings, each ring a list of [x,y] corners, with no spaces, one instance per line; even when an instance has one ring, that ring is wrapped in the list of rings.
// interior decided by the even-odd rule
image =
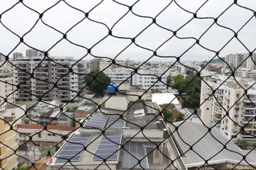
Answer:
[[[174,125],[179,126],[181,123],[183,122],[177,122]],[[172,131],[175,130],[173,125],[169,124],[168,126]],[[225,162],[237,164],[243,160],[242,155],[246,155],[247,151],[241,150],[240,147],[235,145],[233,142],[230,142],[215,128],[208,133],[208,128],[205,128],[204,125],[197,124],[192,121],[185,121],[179,126],[178,130],[179,135],[175,131],[172,138],[176,141],[175,143],[177,148],[179,148],[180,154],[184,154],[181,158],[187,168],[204,165],[205,160],[210,158],[211,159],[208,161],[208,164],[219,164]],[[199,141],[200,138],[202,139]],[[226,149],[223,149],[224,147],[221,143],[224,143],[224,145],[226,144]],[[190,149],[190,146],[192,145],[194,145],[193,150]],[[195,152],[198,155],[195,154]],[[205,160],[203,160],[199,155]],[[246,162],[254,166],[256,165],[255,152],[250,152],[250,154],[246,156]],[[246,162],[243,160],[240,164],[248,165]]]

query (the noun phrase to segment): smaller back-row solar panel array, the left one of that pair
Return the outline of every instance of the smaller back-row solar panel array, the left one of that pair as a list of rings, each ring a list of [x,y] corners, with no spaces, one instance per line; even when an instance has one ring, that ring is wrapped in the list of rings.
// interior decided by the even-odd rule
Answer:
[[[92,118],[90,118],[89,122],[86,126],[91,128],[104,128],[106,122],[108,121],[109,116],[104,114],[94,114]]]

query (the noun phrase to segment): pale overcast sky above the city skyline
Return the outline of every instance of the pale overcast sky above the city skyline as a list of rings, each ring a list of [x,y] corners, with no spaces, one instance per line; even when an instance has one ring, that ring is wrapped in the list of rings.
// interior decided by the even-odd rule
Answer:
[[[131,0],[116,0],[117,2],[125,3],[126,5],[132,5],[135,1]],[[0,0],[0,14],[13,6],[17,1],[14,0]],[[55,0],[23,0],[23,2],[38,12],[43,12],[48,7],[55,4]],[[96,0],[66,0],[69,5],[79,8],[82,11],[88,12],[97,3],[101,1]],[[141,0],[133,7],[133,12],[138,15],[155,17],[168,5],[171,1],[164,0]],[[176,2],[185,10],[196,12],[196,10],[205,2],[201,0],[176,0]],[[221,14],[228,6],[233,3],[231,0],[209,0],[205,5],[197,12],[198,17],[213,17],[216,18]],[[238,4],[251,8],[256,11],[255,0],[238,0]],[[113,24],[121,18],[128,11],[128,8],[122,5],[118,5],[114,1],[104,0],[99,6],[89,12],[89,18],[97,20],[98,22],[105,23],[109,28],[112,28]],[[219,19],[218,24],[225,27],[232,28],[234,31],[238,31],[243,24],[247,22],[253,16],[253,12],[245,10],[244,8],[236,5],[230,7],[228,11],[224,13]],[[157,16],[156,22],[162,27],[176,30],[184,23],[187,23],[193,17],[192,14],[181,10],[175,3],[172,3],[166,8],[160,15]],[[51,8],[43,15],[43,21],[52,27],[58,29],[61,32],[68,31],[72,25],[84,18],[84,14],[77,11],[63,1],[57,6]],[[16,5],[13,9],[2,15],[2,23],[6,27],[10,28],[19,36],[26,33],[32,25],[35,24],[38,19],[36,12],[29,10],[22,3]],[[142,31],[147,25],[152,23],[152,19],[140,18],[129,12],[123,19],[121,19],[112,29],[113,35],[120,37],[135,37]],[[213,19],[193,19],[179,31],[177,36],[179,37],[195,37],[199,38],[201,34],[213,23]],[[90,48],[96,42],[108,35],[108,29],[102,25],[92,22],[88,19],[83,20],[79,25],[68,32],[67,37],[72,42],[86,46]],[[152,24],[142,32],[141,35],[135,40],[139,45],[155,50],[160,44],[169,39],[172,36],[172,32],[166,31],[156,24]],[[200,44],[208,49],[220,50],[221,47],[229,41],[233,36],[233,32],[228,29],[221,28],[214,24],[212,28],[200,39]],[[24,41],[34,48],[40,50],[48,50],[53,44],[63,37],[61,33],[54,31],[53,29],[44,25],[39,21],[35,28],[30,33],[24,36]],[[238,33],[238,38],[247,46],[251,51],[256,48],[256,20],[255,17]],[[0,52],[8,54],[18,44],[19,38],[9,32],[3,25],[0,24]],[[95,56],[104,56],[114,58],[121,52],[131,40],[118,39],[113,36],[106,37],[105,40],[94,46],[92,53]],[[172,38],[161,48],[157,50],[160,56],[180,56],[189,48],[195,40],[193,39],[177,39]],[[20,44],[14,52],[22,52],[25,54],[25,50],[28,46]],[[246,53],[247,50],[236,39],[233,39],[223,50],[221,50],[220,56],[225,56],[229,53]],[[67,40],[59,42],[53,49],[49,51],[51,56],[73,56],[75,58],[81,58],[86,54],[86,49],[72,45]],[[152,52],[137,47],[132,44],[123,53],[119,54],[118,59],[134,59],[145,60],[152,55]],[[203,61],[213,57],[214,53],[209,52],[201,48],[199,45],[193,46],[187,53],[185,53],[181,59],[183,61]],[[12,54],[11,54],[12,57]],[[91,59],[88,56],[84,59]],[[172,61],[171,58],[158,58],[153,57],[152,61]]]

